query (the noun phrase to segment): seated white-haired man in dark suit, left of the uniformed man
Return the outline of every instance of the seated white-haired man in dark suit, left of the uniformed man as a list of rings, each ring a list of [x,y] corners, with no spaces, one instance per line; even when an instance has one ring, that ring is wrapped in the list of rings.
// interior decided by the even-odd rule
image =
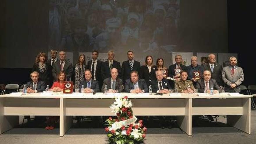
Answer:
[[[153,93],[170,93],[169,89],[171,86],[169,85],[166,79],[163,79],[163,71],[156,71],[157,81],[152,81],[152,92]]]

